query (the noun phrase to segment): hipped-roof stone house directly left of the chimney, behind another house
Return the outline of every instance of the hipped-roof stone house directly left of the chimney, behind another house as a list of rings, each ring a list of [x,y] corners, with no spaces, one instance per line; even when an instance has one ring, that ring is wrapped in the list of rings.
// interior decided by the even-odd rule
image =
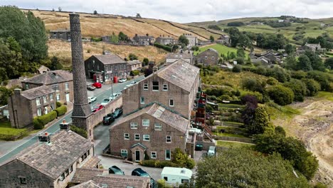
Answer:
[[[24,90],[49,85],[56,91],[56,101],[60,103],[73,102],[73,74],[68,71],[47,71],[21,82]]]

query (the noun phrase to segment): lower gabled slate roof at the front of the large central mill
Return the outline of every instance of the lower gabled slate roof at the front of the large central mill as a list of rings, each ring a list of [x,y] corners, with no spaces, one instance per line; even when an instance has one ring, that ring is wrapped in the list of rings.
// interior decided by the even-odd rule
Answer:
[[[113,125],[110,128],[110,130],[112,130],[112,128],[116,127],[117,125],[120,125],[129,120],[132,120],[135,117],[138,117],[139,115],[142,115],[142,114],[151,115],[152,117],[156,118],[157,120],[164,122],[166,125],[174,127],[176,130],[179,130],[179,131],[183,132],[184,134],[186,133],[187,129],[189,128],[189,120],[187,120],[185,117],[181,117],[181,115],[172,113],[171,111],[167,110],[166,108],[162,107],[161,105],[159,105],[157,103],[153,103],[151,105],[148,105],[146,108],[142,108],[141,110],[138,110],[135,113],[122,117],[122,119],[117,121],[117,123],[115,125]]]

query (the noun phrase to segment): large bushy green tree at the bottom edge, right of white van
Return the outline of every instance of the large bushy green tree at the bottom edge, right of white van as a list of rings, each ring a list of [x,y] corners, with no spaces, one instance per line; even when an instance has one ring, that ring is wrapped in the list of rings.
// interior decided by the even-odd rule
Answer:
[[[295,177],[290,162],[279,155],[261,155],[250,150],[229,149],[198,163],[196,187],[311,187]]]

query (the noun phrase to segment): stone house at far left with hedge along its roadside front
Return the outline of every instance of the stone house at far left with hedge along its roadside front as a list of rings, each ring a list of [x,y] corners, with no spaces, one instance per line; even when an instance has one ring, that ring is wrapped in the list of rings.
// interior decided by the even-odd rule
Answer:
[[[50,85],[30,90],[15,89],[8,99],[9,119],[16,128],[31,125],[33,117],[41,116],[56,109],[56,91]]]

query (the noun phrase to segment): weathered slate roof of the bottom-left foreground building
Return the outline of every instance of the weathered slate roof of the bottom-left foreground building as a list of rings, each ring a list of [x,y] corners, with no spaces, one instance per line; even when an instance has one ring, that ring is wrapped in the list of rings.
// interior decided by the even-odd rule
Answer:
[[[93,145],[75,132],[60,130],[51,135],[50,144],[36,142],[16,155],[16,159],[56,179]]]

